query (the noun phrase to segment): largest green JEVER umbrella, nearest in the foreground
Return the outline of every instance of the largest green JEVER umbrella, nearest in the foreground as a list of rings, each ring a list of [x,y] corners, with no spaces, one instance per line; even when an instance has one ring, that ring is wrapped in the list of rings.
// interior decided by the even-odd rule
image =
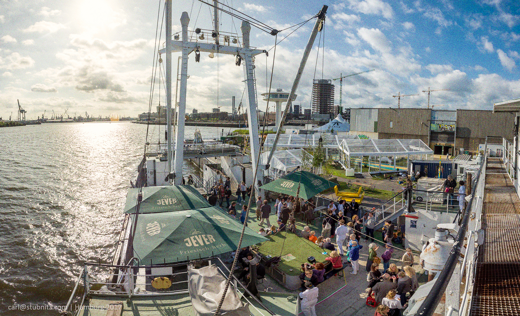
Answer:
[[[241,232],[242,223],[216,207],[138,214],[134,257],[139,264],[207,258],[237,250]],[[242,247],[266,240],[245,227]]]

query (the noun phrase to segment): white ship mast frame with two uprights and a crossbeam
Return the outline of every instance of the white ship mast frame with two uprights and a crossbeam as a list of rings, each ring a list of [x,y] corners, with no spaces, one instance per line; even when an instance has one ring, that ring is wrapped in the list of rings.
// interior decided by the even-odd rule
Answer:
[[[196,50],[199,52],[207,52],[214,54],[228,54],[228,55],[239,55],[240,59],[243,60],[244,66],[244,77],[245,84],[248,90],[248,107],[249,107],[249,136],[251,140],[251,157],[252,157],[252,167],[253,172],[259,168],[256,163],[256,157],[258,156],[260,150],[260,142],[258,135],[258,116],[257,116],[257,103],[256,103],[256,89],[255,89],[255,81],[254,81],[254,65],[253,65],[253,56],[266,53],[266,50],[263,49],[251,49],[249,46],[249,33],[251,30],[250,23],[247,21],[242,21],[242,47],[240,46],[230,46],[229,39],[227,40],[228,45],[226,44],[226,39],[222,41],[224,45],[219,44],[219,33],[218,33],[218,9],[217,2],[214,2],[214,34],[216,35],[215,43],[204,43],[204,42],[194,42],[191,41],[188,36],[188,24],[189,17],[188,12],[183,12],[180,18],[180,23],[182,26],[182,38],[180,41],[172,41],[172,0],[166,0],[166,48],[161,49],[159,51],[160,54],[166,54],[166,112],[171,113],[171,53],[173,52],[182,52],[182,64],[180,70],[180,89],[179,89],[179,106],[177,113],[177,129],[175,135],[175,161],[173,167],[173,176],[175,179],[175,184],[180,185],[182,183],[182,173],[183,173],[183,144],[184,144],[184,124],[185,124],[185,114],[186,114],[186,93],[187,93],[187,76],[188,76],[188,55]],[[169,30],[169,33],[168,33]],[[168,168],[170,168],[170,172],[172,172],[171,167],[171,114],[168,114]],[[256,172],[257,176],[255,179],[254,187],[255,192],[258,195],[258,181],[262,180],[263,172],[258,170]]]

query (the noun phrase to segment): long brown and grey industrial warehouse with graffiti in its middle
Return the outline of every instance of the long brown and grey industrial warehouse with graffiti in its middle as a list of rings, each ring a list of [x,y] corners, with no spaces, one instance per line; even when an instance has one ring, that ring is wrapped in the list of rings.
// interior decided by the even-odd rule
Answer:
[[[436,155],[478,153],[486,136],[513,140],[511,113],[491,110],[432,110],[420,108],[350,109],[350,134],[372,139],[419,139]]]

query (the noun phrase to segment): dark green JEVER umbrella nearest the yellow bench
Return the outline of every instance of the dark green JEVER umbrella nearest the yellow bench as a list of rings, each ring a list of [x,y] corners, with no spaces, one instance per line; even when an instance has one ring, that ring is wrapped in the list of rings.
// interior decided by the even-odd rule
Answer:
[[[298,183],[300,182],[302,186],[300,187],[299,196],[306,200],[336,185],[334,182],[321,178],[321,176],[314,173],[297,170],[275,181],[264,184],[260,188],[267,191],[296,196]]]

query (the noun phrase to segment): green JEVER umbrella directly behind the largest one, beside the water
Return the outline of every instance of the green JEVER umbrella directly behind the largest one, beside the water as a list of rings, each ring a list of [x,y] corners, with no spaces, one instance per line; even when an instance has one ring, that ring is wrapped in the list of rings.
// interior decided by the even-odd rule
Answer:
[[[135,213],[139,188],[128,189],[124,212]],[[139,213],[162,213],[211,207],[190,185],[148,186],[142,188]]]

